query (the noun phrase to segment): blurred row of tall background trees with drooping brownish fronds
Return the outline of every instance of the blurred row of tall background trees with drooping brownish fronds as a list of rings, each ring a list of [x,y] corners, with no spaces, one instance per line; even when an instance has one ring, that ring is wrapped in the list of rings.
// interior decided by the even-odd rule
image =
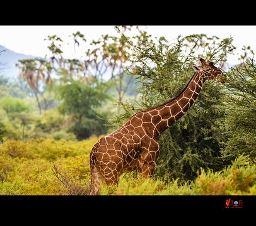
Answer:
[[[126,29],[131,30],[131,27],[122,26],[124,31]],[[84,35],[79,31],[70,36],[73,37],[75,50],[76,46],[86,42]],[[127,80],[127,75],[124,73],[124,64],[130,56],[129,49],[131,48],[124,36],[102,35],[102,38],[93,40],[90,43],[92,48],[84,51],[81,60],[63,58],[61,49],[63,41],[59,36],[47,36],[45,41],[49,41],[49,46],[47,46],[51,53],[49,60],[46,58],[26,59],[20,60],[16,65],[21,70],[20,76],[28,83],[33,95],[35,95],[40,114],[42,114],[40,97],[44,100],[44,110],[47,110],[47,107],[54,100],[47,101],[44,92],[45,89],[52,87],[53,82],[56,81],[57,85],[65,85],[69,79],[80,80],[86,85],[97,87],[103,95],[115,87],[118,100],[119,102],[122,101],[132,81],[132,78]],[[54,79],[52,79],[52,72],[54,72]],[[108,78],[105,76],[107,74]],[[124,87],[124,80],[127,83],[126,87]]]

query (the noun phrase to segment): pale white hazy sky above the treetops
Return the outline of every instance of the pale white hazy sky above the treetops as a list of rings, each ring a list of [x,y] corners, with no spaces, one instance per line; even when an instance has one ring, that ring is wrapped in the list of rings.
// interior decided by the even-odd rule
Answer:
[[[169,43],[172,43],[178,35],[186,36],[196,33],[204,33],[207,36],[216,35],[219,38],[233,37],[233,45],[236,46],[236,55],[230,56],[230,64],[238,63],[237,53],[241,52],[243,45],[250,45],[256,53],[256,26],[139,26],[141,30],[148,31],[153,37],[165,36]],[[88,46],[76,49],[74,52],[73,38],[69,37],[72,33],[80,31],[84,34]],[[125,35],[134,35],[135,31],[127,31]],[[49,51],[47,45],[49,42],[44,41],[48,35],[57,35],[62,38],[62,50],[64,58],[79,58],[89,47],[92,40],[98,40],[101,35],[117,36],[114,26],[0,26],[0,45],[9,50],[26,55],[44,57]],[[67,45],[67,43],[70,43]]]

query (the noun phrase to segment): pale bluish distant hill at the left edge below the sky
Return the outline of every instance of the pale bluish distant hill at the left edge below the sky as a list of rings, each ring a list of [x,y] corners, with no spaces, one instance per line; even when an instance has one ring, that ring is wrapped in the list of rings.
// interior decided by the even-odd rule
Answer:
[[[18,77],[19,75],[19,70],[15,66],[15,64],[18,63],[18,60],[38,57],[32,55],[25,55],[22,53],[15,53],[15,51],[8,50],[8,48],[0,45],[0,51],[2,50],[6,51],[0,53],[0,75],[3,75],[6,78],[10,78],[11,80]]]

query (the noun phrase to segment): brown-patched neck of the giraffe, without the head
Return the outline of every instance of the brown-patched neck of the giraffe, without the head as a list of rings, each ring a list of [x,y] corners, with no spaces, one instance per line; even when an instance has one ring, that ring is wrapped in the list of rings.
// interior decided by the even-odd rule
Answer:
[[[161,116],[158,117],[158,122],[155,123],[155,135],[157,137],[190,109],[201,92],[203,83],[204,80],[202,80],[200,73],[195,72],[180,94],[149,110],[149,114],[151,114],[150,112],[155,114],[156,112],[153,111],[157,110],[158,115]]]

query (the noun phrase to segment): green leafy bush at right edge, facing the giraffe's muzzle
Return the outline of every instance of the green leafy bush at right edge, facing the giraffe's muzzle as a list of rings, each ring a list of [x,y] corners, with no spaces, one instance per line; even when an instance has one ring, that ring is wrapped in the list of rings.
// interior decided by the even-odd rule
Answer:
[[[224,105],[225,117],[219,122],[223,129],[224,159],[235,159],[241,154],[256,157],[256,67],[252,59],[226,73]]]

